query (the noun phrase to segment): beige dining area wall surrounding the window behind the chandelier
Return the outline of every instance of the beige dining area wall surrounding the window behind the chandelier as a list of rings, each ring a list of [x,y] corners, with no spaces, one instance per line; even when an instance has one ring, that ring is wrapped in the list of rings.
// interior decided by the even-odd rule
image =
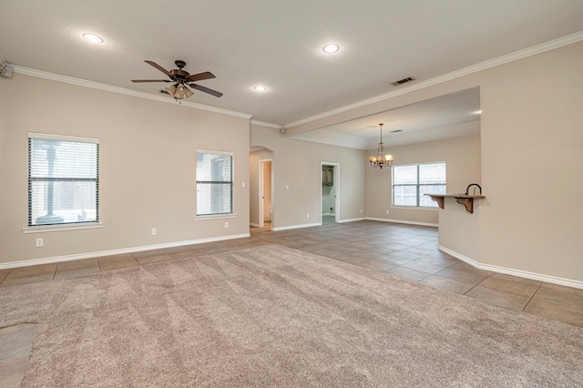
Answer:
[[[470,123],[479,126],[479,121]],[[390,144],[390,138],[387,140]],[[400,147],[390,147],[395,165],[445,162],[447,168],[447,192],[464,192],[469,183],[480,183],[480,137],[450,138]],[[375,149],[369,150],[373,155]],[[391,168],[366,169],[367,217],[379,220],[395,220],[437,224],[437,209],[393,208]],[[389,214],[386,214],[389,210]]]

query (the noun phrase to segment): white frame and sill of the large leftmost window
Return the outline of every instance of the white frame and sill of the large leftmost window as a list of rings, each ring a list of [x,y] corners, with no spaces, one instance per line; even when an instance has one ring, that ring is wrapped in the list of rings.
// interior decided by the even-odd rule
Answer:
[[[86,179],[86,178],[75,178],[75,177],[66,177],[66,178],[38,178],[32,177],[31,175],[31,163],[32,163],[32,154],[31,154],[31,145],[32,140],[52,140],[52,141],[63,141],[63,142],[70,142],[70,143],[90,143],[95,144],[96,147],[96,178],[95,179]],[[98,138],[82,138],[82,137],[75,137],[75,136],[66,136],[66,135],[56,135],[56,134],[47,134],[47,133],[39,133],[39,132],[28,132],[27,134],[27,214],[26,214],[26,227],[23,228],[23,233],[36,233],[36,232],[45,232],[45,231],[56,231],[56,230],[80,230],[80,229],[95,229],[95,228],[102,228],[102,224],[99,220],[99,139]],[[95,192],[95,203],[96,203],[96,219],[95,220],[83,220],[83,221],[74,221],[74,222],[59,222],[54,224],[33,224],[32,223],[32,200],[33,200],[33,193],[32,193],[32,185],[33,182],[66,182],[66,181],[95,181],[96,183],[96,192]]]

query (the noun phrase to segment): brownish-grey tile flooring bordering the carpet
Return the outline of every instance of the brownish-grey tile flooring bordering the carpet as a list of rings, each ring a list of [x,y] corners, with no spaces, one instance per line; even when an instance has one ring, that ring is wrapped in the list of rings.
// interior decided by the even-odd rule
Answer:
[[[221,251],[281,244],[507,309],[526,311],[583,327],[583,290],[478,270],[437,250],[435,228],[378,221],[336,224],[326,217],[319,227],[281,231],[270,229],[270,225],[261,229],[251,228],[251,238],[248,239],[0,270],[0,289]],[[0,350],[0,386],[18,386],[18,383],[10,382],[20,381],[18,376],[22,374],[22,369],[18,370],[17,366],[22,364],[21,352],[26,352],[26,349],[30,351],[30,342],[27,341],[35,330],[28,326],[0,329],[0,349],[5,348],[3,341],[16,341],[20,346],[13,353]],[[14,336],[18,338],[14,339]]]

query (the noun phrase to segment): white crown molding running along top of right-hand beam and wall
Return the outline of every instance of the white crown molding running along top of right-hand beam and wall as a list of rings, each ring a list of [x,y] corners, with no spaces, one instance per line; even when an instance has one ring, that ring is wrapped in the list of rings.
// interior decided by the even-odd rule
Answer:
[[[318,114],[318,115],[302,118],[300,120],[293,121],[290,124],[284,125],[283,128],[293,128],[293,127],[301,126],[302,124],[310,123],[312,121],[316,121],[316,120],[319,120],[321,118],[338,115],[340,113],[343,113],[343,112],[346,112],[346,111],[349,111],[352,109],[356,109],[358,107],[365,107],[367,105],[371,105],[371,104],[374,104],[376,102],[384,101],[384,100],[389,99],[389,98],[394,98],[394,97],[401,96],[401,95],[404,95],[407,93],[411,93],[414,90],[423,89],[425,87],[431,87],[431,86],[434,86],[437,84],[441,84],[442,82],[445,82],[445,81],[449,81],[449,80],[452,80],[455,78],[467,76],[469,74],[477,73],[478,71],[486,70],[490,67],[504,65],[506,63],[513,62],[513,61],[516,61],[518,59],[526,58],[527,56],[535,56],[537,54],[544,53],[546,51],[553,50],[553,49],[558,48],[558,47],[568,46],[568,45],[571,45],[573,43],[577,43],[581,40],[583,40],[583,31],[579,31],[578,33],[571,34],[568,36],[559,37],[557,39],[553,39],[553,40],[550,40],[548,42],[541,43],[540,45],[537,45],[537,46],[527,47],[525,49],[518,50],[514,53],[507,54],[506,56],[498,56],[494,59],[490,59],[490,60],[487,60],[485,62],[481,62],[481,63],[476,64],[476,65],[467,66],[467,67],[461,68],[459,70],[455,70],[455,71],[452,71],[450,73],[446,73],[442,76],[433,77],[433,78],[427,79],[425,81],[421,81],[421,82],[416,83],[414,85],[411,85],[409,87],[404,87],[402,89],[387,92],[387,93],[384,93],[384,94],[376,96],[376,97],[363,99],[362,101],[358,101],[358,102],[355,102],[353,104],[346,105],[344,107],[338,107],[338,108],[329,110],[327,112],[323,112],[323,113]]]

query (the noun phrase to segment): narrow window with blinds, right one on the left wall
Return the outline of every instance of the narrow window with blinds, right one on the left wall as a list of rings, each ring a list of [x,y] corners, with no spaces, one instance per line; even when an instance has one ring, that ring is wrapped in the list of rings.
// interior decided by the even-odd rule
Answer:
[[[197,152],[197,216],[233,212],[232,176],[232,154]]]

